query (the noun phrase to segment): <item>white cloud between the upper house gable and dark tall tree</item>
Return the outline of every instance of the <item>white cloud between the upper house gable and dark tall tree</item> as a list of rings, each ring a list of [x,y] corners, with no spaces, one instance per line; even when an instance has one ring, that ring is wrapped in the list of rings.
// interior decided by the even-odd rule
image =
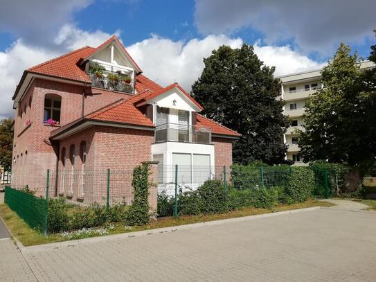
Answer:
[[[190,91],[191,85],[202,73],[203,59],[211,55],[213,49],[221,45],[237,48],[242,43],[240,38],[231,39],[225,35],[209,35],[186,43],[152,35],[127,47],[127,51],[146,76],[164,86],[178,82]]]

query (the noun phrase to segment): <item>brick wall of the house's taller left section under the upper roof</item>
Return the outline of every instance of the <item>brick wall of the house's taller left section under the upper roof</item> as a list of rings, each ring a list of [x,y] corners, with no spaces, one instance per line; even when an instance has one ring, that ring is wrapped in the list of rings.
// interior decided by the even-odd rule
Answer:
[[[44,194],[45,175],[48,168],[57,165],[57,147],[49,141],[55,126],[44,125],[44,97],[55,94],[62,99],[60,124],[66,125],[82,116],[83,86],[70,85],[62,82],[35,79],[15,111],[15,138],[12,162],[12,186],[22,187],[26,184],[37,190],[38,195]],[[90,90],[86,90],[90,92]],[[129,95],[111,91],[93,89],[92,94],[84,99],[84,113],[105,107],[120,98]],[[30,121],[30,125],[26,125]],[[79,146],[79,144],[78,144]],[[67,153],[69,148],[66,149]],[[78,147],[76,147],[78,150]]]

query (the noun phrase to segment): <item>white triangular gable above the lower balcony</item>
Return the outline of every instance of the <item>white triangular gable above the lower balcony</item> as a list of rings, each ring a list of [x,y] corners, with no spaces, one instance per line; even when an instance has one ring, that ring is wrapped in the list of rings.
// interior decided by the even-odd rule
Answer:
[[[159,107],[169,107],[171,109],[183,109],[190,112],[199,112],[200,109],[185,94],[175,87],[165,93],[147,101],[149,104],[159,105]]]

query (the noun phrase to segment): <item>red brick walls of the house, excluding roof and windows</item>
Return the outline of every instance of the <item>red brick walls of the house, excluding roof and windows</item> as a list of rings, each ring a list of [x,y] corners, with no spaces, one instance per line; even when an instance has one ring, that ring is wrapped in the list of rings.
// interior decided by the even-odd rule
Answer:
[[[60,125],[44,124],[46,94],[61,97]],[[83,85],[35,79],[15,113],[12,186],[28,185],[37,191],[37,195],[45,195],[46,170],[50,169],[51,196],[65,195],[74,202],[103,202],[107,193],[107,169],[110,169],[111,200],[132,202],[133,169],[152,159],[153,131],[95,125],[60,141],[49,139],[51,131],[82,117],[82,106],[84,114],[88,114],[129,97],[102,89],[84,89]],[[82,142],[86,144],[85,164],[82,164],[80,150]],[[213,137],[213,144],[215,166],[231,166],[232,140]]]

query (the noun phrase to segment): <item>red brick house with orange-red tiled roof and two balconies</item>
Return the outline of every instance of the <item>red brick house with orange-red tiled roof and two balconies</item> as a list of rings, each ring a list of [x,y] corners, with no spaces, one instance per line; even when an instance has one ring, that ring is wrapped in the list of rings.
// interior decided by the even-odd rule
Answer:
[[[163,88],[143,76],[116,36],[27,69],[12,99],[12,186],[39,194],[47,169],[132,170],[150,160],[231,166],[240,136],[200,115],[202,106],[177,83]],[[55,194],[83,198],[90,189],[83,178],[69,188],[56,179]]]

